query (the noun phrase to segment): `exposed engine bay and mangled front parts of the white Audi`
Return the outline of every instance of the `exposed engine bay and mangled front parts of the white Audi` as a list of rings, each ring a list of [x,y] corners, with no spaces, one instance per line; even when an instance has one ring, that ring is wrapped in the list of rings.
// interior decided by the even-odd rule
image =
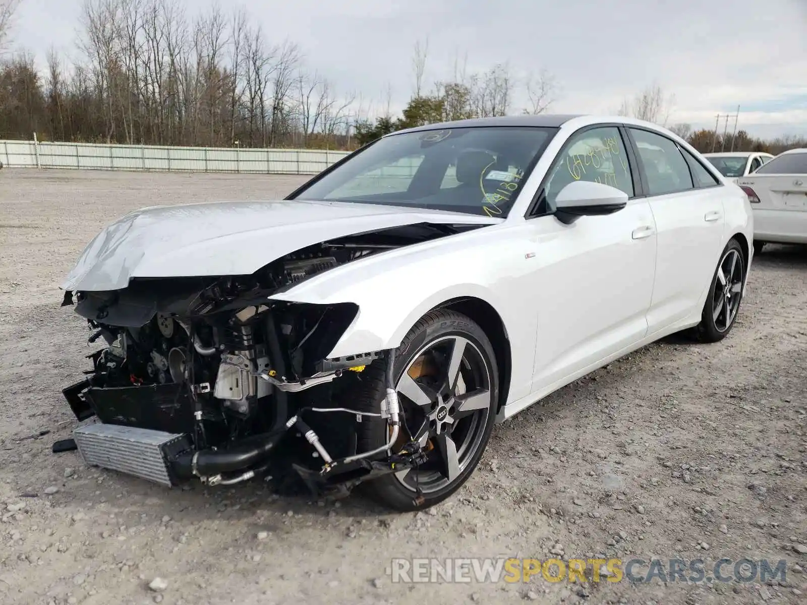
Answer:
[[[123,290],[66,291],[63,306],[75,305],[90,344],[101,345],[88,356],[86,378],[63,391],[77,419],[100,421],[74,432],[82,457],[167,486],[232,484],[291,470],[317,494],[347,494],[367,478],[420,464],[420,445],[401,428],[394,349],[326,357],[358,307],[269,297],[358,258],[463,227],[420,223],[349,236],[250,275],[136,278]],[[387,378],[387,397],[373,412],[350,401],[370,365],[383,367]],[[389,440],[359,451],[355,428],[366,416],[386,422]]]

